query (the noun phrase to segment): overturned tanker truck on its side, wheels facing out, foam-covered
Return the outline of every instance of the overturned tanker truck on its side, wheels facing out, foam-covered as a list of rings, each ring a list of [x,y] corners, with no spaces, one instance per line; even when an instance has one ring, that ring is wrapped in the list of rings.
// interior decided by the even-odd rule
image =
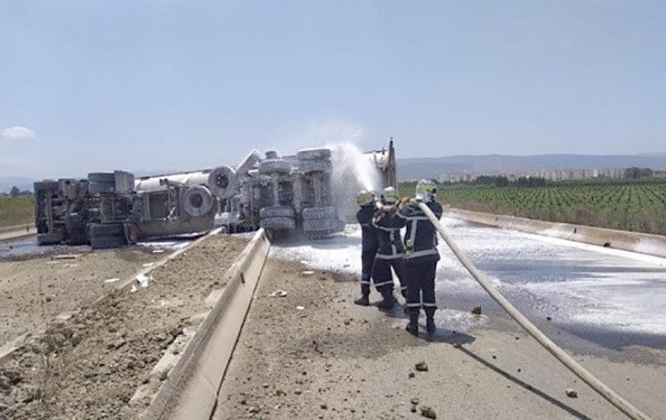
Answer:
[[[388,149],[363,156],[375,169],[376,188],[396,186],[392,142]],[[123,171],[93,172],[85,180],[35,182],[37,240],[103,249],[218,227],[229,233],[262,227],[274,236],[329,235],[348,222],[341,206],[350,197],[339,196],[361,187],[344,173],[349,168],[336,168],[336,162],[329,148],[290,156],[253,150],[236,167],[142,178]],[[333,188],[336,175],[344,191]]]

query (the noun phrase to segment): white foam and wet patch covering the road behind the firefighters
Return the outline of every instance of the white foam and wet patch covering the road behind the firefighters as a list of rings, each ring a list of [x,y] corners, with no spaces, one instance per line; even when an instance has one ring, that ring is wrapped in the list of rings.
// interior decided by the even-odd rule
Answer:
[[[527,316],[561,323],[666,334],[666,259],[444,218],[459,247]],[[435,290],[446,298],[487,298],[440,240]],[[360,229],[331,239],[274,245],[272,256],[310,269],[360,277]],[[445,320],[443,320],[445,321]],[[451,321],[451,320],[450,320]],[[461,329],[462,330],[462,329]]]

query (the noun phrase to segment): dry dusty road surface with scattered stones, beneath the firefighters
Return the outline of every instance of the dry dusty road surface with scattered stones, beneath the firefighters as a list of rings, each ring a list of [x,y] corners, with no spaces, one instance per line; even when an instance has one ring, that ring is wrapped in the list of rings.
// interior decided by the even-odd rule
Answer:
[[[219,393],[216,420],[625,418],[504,318],[452,332],[447,324],[469,309],[443,309],[433,336],[412,337],[404,331],[402,307],[388,315],[358,307],[358,282],[334,277],[303,275],[302,265],[269,259]],[[274,290],[288,293],[271,298]],[[576,358],[659,417],[666,412],[666,352],[649,351],[661,362]],[[577,399],[564,392],[572,388]]]

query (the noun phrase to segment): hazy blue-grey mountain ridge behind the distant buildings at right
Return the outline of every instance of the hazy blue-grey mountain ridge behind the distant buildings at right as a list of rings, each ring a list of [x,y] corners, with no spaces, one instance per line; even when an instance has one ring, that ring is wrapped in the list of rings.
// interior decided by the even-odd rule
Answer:
[[[398,158],[400,181],[436,178],[444,173],[520,175],[538,170],[628,168],[666,169],[666,153],[640,155],[455,155]]]

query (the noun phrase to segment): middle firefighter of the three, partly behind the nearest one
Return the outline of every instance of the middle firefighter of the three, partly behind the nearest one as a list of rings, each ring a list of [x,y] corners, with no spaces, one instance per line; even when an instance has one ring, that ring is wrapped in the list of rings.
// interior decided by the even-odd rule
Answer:
[[[402,286],[402,295],[407,295],[406,283],[402,276],[402,256],[404,256],[405,248],[402,244],[402,239],[400,239],[400,227],[404,223],[394,217],[398,210],[395,206],[397,203],[398,194],[395,189],[393,187],[383,189],[381,205],[373,220],[373,224],[377,228],[379,249],[377,249],[377,255],[375,256],[372,278],[375,281],[375,287],[382,293],[382,298],[384,298],[378,307],[384,310],[391,310],[396,303],[396,299],[393,297],[393,276],[391,269],[398,276],[398,280]]]

